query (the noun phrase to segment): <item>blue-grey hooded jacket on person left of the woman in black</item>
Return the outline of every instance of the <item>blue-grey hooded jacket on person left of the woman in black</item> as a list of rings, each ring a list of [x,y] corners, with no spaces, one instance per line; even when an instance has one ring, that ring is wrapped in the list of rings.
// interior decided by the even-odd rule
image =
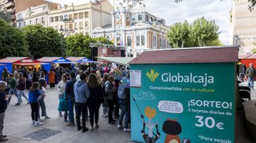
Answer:
[[[77,81],[74,85],[75,102],[86,103],[90,97],[90,90],[85,81]]]

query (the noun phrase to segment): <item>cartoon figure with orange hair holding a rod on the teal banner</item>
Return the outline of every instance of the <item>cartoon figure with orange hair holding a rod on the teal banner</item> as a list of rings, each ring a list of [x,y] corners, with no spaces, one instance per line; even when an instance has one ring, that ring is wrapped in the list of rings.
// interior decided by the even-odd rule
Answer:
[[[146,107],[145,115],[148,117],[148,122],[143,121],[143,130],[141,130],[141,134],[143,135],[143,139],[146,143],[155,143],[160,138],[160,132],[158,132],[158,124],[152,122],[152,118],[155,117],[155,114],[155,109]],[[148,134],[145,133],[145,126],[148,128]],[[157,134],[153,132],[154,128],[156,128]]]

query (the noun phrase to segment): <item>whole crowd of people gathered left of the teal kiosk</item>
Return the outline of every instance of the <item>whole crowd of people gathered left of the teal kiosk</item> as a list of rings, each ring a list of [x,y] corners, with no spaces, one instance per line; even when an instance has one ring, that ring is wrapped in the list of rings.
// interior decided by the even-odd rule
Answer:
[[[115,64],[88,67],[52,67],[47,72],[44,67],[39,69],[25,69],[16,67],[11,74],[7,68],[1,73],[0,81],[0,142],[5,142],[6,135],[2,135],[4,128],[4,111],[11,102],[12,95],[17,97],[20,105],[25,98],[31,107],[32,125],[42,125],[44,119],[50,118],[46,114],[46,76],[51,89],[58,90],[58,116],[68,122],[68,126],[75,126],[77,130],[87,132],[99,128],[99,110],[103,107],[101,116],[108,117],[108,123],[116,124],[118,129],[130,131],[129,105],[129,67]],[[6,89],[8,88],[8,92]],[[27,95],[25,95],[27,90]],[[41,117],[40,117],[41,109]],[[75,112],[74,112],[75,109]],[[75,118],[74,118],[75,116]],[[82,125],[80,117],[82,116]],[[124,118],[124,125],[123,125]],[[76,119],[76,121],[75,121]],[[118,120],[118,121],[117,121]],[[90,128],[86,127],[90,122]]]

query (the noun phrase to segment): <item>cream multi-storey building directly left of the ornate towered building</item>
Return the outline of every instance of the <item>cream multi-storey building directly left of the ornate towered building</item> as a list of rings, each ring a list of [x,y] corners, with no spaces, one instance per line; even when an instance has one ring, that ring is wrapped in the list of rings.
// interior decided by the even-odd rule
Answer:
[[[61,31],[65,36],[75,33],[91,36],[92,29],[111,23],[111,11],[113,6],[108,0],[79,6],[65,5],[49,11],[49,26],[56,30],[63,29]]]

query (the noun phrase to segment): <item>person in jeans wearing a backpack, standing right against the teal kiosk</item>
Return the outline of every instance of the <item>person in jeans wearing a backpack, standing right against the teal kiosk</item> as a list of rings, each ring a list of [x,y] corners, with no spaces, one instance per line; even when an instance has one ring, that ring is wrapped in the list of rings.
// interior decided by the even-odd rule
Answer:
[[[129,82],[127,82],[127,79],[122,78],[122,83],[118,87],[118,93],[117,93],[118,98],[120,99],[120,108],[122,111],[120,114],[117,128],[118,129],[124,128],[124,132],[131,131],[128,127],[129,114],[130,114],[130,100],[129,100],[129,95],[127,95],[125,92],[125,90],[129,90],[129,88],[127,88],[128,84],[129,84]],[[122,125],[123,118],[124,118],[124,126]]]

